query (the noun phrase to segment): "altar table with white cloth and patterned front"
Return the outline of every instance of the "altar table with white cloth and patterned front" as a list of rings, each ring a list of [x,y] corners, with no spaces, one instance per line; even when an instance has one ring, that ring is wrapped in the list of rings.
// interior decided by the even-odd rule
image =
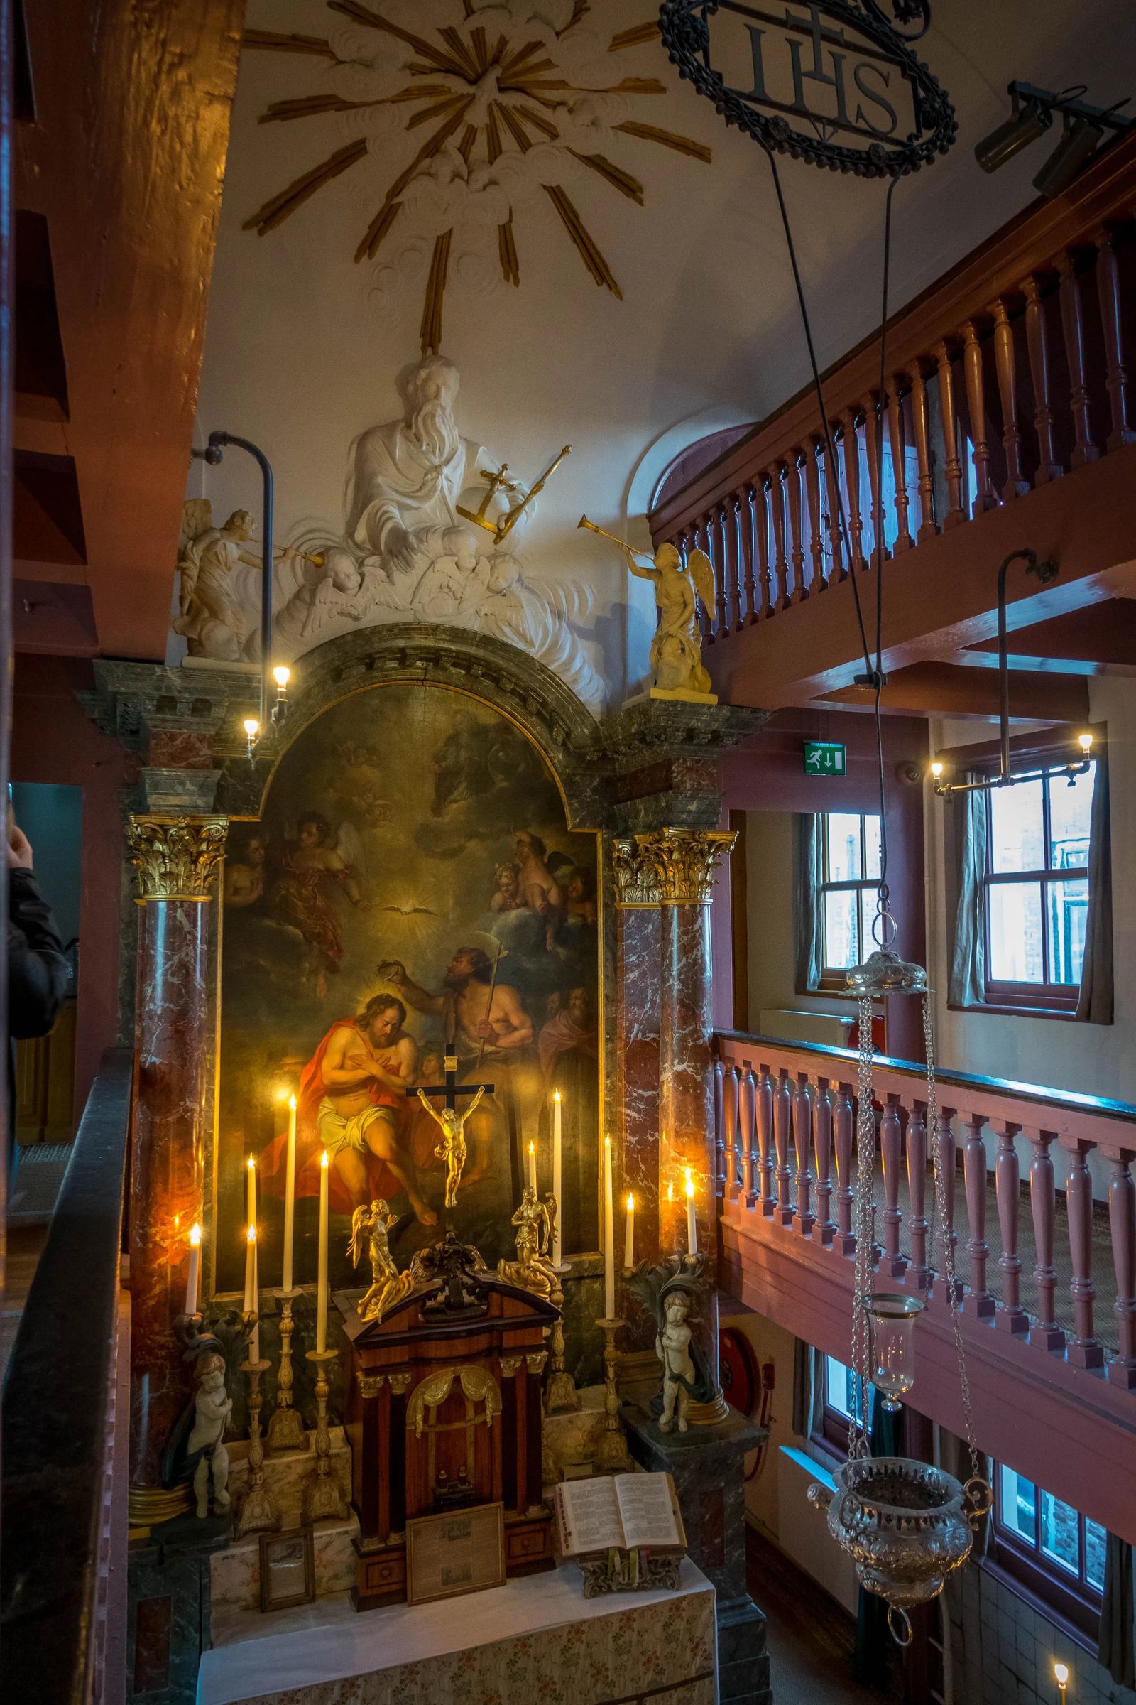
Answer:
[[[198,1705],[714,1705],[714,1587],[586,1599],[579,1569],[358,1613],[346,1594],[242,1615],[201,1659]]]

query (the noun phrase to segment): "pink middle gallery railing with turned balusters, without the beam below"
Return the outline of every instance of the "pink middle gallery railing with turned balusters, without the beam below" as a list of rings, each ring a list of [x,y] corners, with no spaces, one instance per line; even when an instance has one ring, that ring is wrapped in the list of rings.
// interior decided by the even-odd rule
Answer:
[[[804,1236],[846,1258],[848,1269],[857,1062],[852,1049],[717,1037],[722,1217],[763,1224],[763,1236]],[[966,1072],[940,1071],[937,1081],[944,1173],[952,1182],[962,1159],[966,1224],[955,1222],[950,1188],[945,1234],[957,1250],[964,1313],[1136,1393],[1136,1107]],[[874,1098],[882,1171],[875,1267],[889,1287],[933,1294],[942,1280],[930,1245],[925,1069],[879,1059]],[[1020,1149],[1029,1154],[1027,1195]],[[1093,1202],[1093,1156],[1107,1163],[1107,1183],[1099,1173],[1107,1209]],[[1095,1270],[1105,1258],[1110,1270]],[[1112,1303],[1110,1344],[1099,1330],[1099,1282]]]

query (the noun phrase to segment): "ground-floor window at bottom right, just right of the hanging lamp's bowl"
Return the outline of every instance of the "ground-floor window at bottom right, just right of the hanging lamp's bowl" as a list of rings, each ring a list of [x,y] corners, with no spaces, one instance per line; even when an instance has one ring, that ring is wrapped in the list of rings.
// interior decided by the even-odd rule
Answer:
[[[1044,1611],[1095,1642],[1107,1533],[1005,1463],[995,1466],[988,1562]]]

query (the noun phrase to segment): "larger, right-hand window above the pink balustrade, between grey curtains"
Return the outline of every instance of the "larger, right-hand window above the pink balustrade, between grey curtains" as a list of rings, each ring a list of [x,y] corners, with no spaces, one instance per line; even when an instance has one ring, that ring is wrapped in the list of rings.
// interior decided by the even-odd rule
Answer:
[[[986,805],[986,1003],[1076,1011],[1088,919],[1093,777],[991,788]]]

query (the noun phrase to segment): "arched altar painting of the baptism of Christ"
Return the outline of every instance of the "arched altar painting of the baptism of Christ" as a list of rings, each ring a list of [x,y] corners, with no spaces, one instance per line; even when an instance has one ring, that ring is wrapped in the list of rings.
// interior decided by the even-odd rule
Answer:
[[[446,1214],[496,1265],[538,1151],[552,1190],[562,1095],[564,1250],[598,1241],[596,835],[565,827],[557,784],[506,718],[416,684],[354,694],[281,759],[261,824],[225,864],[216,1287],[240,1286],[247,1158],[257,1159],[262,1286],[279,1284],[288,1093],[296,1096],[296,1282],[315,1279],[329,1154],[332,1286],[364,1284],[356,1207],[387,1200],[399,1267]],[[419,1088],[458,1096],[465,1166],[445,1209],[443,1130]],[[407,1091],[410,1091],[407,1095]]]

